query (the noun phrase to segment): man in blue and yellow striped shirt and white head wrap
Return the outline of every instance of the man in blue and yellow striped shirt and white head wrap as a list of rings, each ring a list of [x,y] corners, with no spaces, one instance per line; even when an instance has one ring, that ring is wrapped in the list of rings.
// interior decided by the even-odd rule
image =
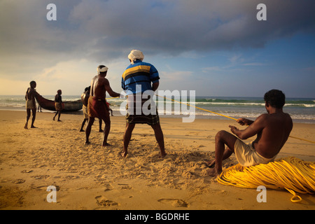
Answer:
[[[123,73],[122,77],[122,87],[123,90],[127,92],[127,115],[126,115],[126,129],[123,136],[124,149],[121,155],[123,157],[127,156],[127,149],[132,137],[132,131],[136,124],[148,124],[154,130],[155,139],[158,141],[161,151],[161,158],[164,158],[165,144],[163,132],[160,126],[160,118],[158,116],[158,110],[155,114],[151,111],[150,113],[144,113],[142,111],[142,106],[150,99],[142,99],[141,97],[141,113],[137,114],[137,97],[136,94],[144,94],[146,90],[152,90],[153,92],[158,89],[159,86],[159,73],[158,70],[152,64],[142,62],[144,59],[144,54],[140,50],[132,50],[128,58],[131,62],[130,66]],[[151,85],[152,83],[152,85]],[[139,90],[140,87],[140,90]],[[140,92],[139,92],[140,91]],[[139,102],[138,102],[139,103]],[[135,109],[136,113],[130,113],[128,108]],[[138,110],[139,111],[139,110]]]

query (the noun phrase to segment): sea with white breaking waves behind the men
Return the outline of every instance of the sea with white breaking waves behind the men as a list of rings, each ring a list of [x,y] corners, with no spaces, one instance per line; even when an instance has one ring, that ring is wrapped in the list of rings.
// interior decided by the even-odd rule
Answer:
[[[55,95],[43,97],[53,100]],[[63,101],[75,101],[77,99],[80,99],[79,95],[62,95]],[[124,100],[125,99],[119,98],[108,99],[115,116],[120,116],[120,104],[122,104]],[[176,107],[175,104],[179,104],[179,102],[172,102],[171,100],[156,97],[157,105],[161,100],[164,104],[162,109],[158,108],[161,117],[168,116],[181,118],[185,116],[182,114],[176,115],[174,114],[174,111],[166,111],[174,110]],[[186,99],[183,103],[232,118],[249,118],[254,120],[260,116],[260,114],[267,113],[265,109],[265,101],[262,97],[195,97],[195,102],[190,102],[190,99]],[[172,104],[172,106],[167,106],[169,104]],[[25,111],[25,96],[0,95],[0,109]],[[283,111],[289,113],[295,122],[315,123],[315,99],[313,98],[286,98],[286,105],[283,107]],[[200,109],[195,109],[195,116],[196,118],[228,119]]]

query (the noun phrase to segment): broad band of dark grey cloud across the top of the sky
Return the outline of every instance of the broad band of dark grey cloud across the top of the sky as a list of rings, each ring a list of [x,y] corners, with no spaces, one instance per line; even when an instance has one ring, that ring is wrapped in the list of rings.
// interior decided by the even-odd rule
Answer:
[[[48,3],[56,4],[57,21],[45,19]],[[7,63],[47,66],[69,57],[125,57],[132,48],[149,55],[177,55],[262,48],[268,41],[297,32],[314,34],[315,1],[264,0],[267,21],[256,20],[258,3],[261,1],[3,0],[1,55],[6,55]],[[3,62],[0,66],[5,67]]]

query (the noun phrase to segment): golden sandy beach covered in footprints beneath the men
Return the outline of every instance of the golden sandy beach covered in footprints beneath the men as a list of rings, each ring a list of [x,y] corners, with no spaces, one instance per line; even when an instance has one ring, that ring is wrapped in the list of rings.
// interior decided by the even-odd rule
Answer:
[[[62,122],[52,117],[36,113],[38,128],[25,130],[25,111],[0,111],[0,209],[315,209],[314,195],[293,203],[286,190],[267,190],[267,202],[258,203],[256,189],[224,186],[207,176],[204,161],[214,158],[214,137],[237,126],[234,120],[160,118],[167,151],[161,159],[148,125],[136,126],[129,155],[121,158],[123,116],[111,117],[109,147],[101,146],[98,122],[92,144],[85,145],[82,115],[62,114]],[[315,141],[315,125],[295,123],[291,135]],[[314,149],[289,138],[277,159],[315,162]],[[234,155],[224,161],[224,167],[236,164]],[[48,186],[57,188],[57,202],[48,203]]]

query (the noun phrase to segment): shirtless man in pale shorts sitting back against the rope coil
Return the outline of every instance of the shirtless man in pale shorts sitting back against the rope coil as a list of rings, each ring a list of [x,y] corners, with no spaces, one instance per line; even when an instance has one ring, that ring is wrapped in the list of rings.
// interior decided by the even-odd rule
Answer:
[[[235,153],[241,166],[249,167],[258,164],[267,164],[274,161],[276,155],[286,143],[293,128],[292,119],[288,113],[283,113],[286,97],[280,90],[270,90],[265,93],[265,109],[267,113],[260,115],[255,121],[239,118],[237,123],[248,125],[245,130],[229,126],[231,132],[220,131],[216,134],[216,158],[208,163],[214,166],[208,173],[218,176],[222,172],[222,161]],[[250,144],[240,139],[257,138]],[[225,145],[228,146],[225,149]]]

